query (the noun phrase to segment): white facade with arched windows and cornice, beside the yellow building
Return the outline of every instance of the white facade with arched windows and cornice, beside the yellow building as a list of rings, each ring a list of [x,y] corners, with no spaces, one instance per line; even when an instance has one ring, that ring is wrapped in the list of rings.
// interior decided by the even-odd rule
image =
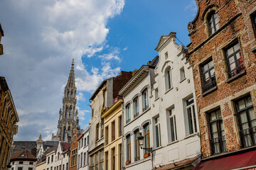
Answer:
[[[154,67],[158,56],[142,66],[119,91],[124,97],[124,168],[152,169],[151,153],[139,147],[139,132],[146,135],[144,146],[152,146],[151,138],[151,89],[154,82]]]

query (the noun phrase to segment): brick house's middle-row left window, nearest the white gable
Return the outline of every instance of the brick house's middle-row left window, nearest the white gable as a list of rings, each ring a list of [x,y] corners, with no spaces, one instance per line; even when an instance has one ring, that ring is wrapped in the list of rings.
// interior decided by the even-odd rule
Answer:
[[[201,72],[203,75],[203,92],[215,87],[216,79],[212,59],[201,66]]]

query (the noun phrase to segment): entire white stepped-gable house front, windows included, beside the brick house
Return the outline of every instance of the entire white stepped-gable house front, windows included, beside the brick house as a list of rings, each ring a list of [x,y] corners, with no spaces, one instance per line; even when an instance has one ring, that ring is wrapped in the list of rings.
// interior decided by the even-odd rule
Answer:
[[[155,50],[159,62],[150,105],[153,164],[193,169],[201,144],[192,67],[184,47],[176,44],[176,33],[162,35]]]

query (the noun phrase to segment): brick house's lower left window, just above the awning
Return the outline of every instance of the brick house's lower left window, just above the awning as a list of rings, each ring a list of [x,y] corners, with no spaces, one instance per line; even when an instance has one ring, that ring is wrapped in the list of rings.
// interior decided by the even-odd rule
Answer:
[[[226,140],[220,109],[208,114],[210,123],[210,144],[212,154],[226,152]]]

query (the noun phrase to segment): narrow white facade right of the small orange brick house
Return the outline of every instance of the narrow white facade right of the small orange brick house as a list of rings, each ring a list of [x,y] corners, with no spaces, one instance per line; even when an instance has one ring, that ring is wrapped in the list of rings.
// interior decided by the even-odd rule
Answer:
[[[89,138],[90,127],[86,128],[78,137],[78,168],[79,170],[89,170]]]

